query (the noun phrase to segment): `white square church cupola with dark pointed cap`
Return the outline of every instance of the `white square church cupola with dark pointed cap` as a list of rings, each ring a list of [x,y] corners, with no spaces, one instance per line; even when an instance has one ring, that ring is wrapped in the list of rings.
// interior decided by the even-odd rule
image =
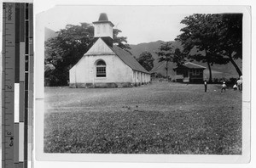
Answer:
[[[102,38],[108,46],[113,47],[113,23],[108,21],[108,16],[105,13],[100,14],[99,20],[92,22],[94,24],[94,38]]]

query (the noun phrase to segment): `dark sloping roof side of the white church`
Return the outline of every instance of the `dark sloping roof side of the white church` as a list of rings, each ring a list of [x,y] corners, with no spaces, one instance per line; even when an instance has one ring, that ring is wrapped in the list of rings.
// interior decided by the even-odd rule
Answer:
[[[111,48],[111,47],[110,47]],[[113,52],[119,56],[119,58],[127,64],[132,70],[137,70],[140,72],[148,73],[148,70],[145,70],[141,64],[137,62],[137,60],[131,55],[131,53],[121,49],[115,45],[112,48]]]

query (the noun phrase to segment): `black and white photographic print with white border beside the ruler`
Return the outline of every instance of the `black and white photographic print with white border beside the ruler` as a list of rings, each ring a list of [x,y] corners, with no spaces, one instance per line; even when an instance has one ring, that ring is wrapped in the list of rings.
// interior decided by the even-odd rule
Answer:
[[[60,5],[38,14],[40,152],[247,154],[245,7],[207,8]]]

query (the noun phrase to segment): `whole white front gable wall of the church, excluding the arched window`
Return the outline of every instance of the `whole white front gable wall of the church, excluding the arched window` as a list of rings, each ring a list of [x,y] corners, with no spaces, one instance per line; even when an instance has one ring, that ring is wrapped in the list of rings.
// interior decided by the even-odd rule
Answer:
[[[106,77],[96,77],[96,62],[106,63]],[[70,70],[70,87],[88,87],[103,83],[132,83],[133,70],[99,38]]]

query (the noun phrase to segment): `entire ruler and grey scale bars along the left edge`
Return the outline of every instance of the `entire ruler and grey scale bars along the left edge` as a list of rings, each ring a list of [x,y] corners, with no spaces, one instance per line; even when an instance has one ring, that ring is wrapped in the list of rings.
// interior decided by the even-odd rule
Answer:
[[[32,16],[32,3],[3,3],[3,168],[32,160]]]

